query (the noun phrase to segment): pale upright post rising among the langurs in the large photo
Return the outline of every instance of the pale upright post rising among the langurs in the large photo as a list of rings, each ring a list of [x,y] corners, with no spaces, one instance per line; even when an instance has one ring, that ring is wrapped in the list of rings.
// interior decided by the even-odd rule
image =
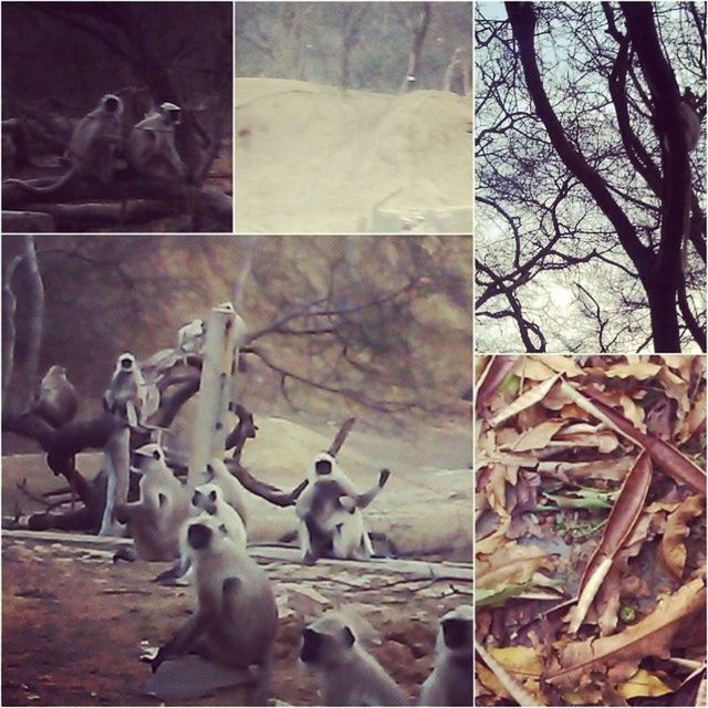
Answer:
[[[230,302],[211,310],[187,477],[189,489],[208,481],[207,464],[212,457],[223,455],[229,414],[232,415],[235,408],[238,351],[244,332],[246,324]]]

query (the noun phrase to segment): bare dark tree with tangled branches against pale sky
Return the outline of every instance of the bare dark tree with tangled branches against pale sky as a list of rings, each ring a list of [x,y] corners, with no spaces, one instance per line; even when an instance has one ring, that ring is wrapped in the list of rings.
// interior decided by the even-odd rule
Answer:
[[[476,32],[480,351],[705,350],[705,143],[678,137],[705,6],[485,3]]]

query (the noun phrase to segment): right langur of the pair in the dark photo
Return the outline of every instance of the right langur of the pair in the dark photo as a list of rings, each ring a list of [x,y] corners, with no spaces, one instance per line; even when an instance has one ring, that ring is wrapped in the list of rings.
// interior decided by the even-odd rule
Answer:
[[[187,170],[175,146],[175,126],[180,122],[181,108],[163,103],[159,108],[133,126],[127,143],[128,165],[139,175],[178,177]]]

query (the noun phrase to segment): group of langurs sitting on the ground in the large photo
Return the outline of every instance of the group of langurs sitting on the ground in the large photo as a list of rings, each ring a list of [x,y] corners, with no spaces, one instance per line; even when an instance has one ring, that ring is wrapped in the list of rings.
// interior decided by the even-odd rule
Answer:
[[[118,365],[122,372],[121,358]],[[111,405],[125,409],[129,396],[116,393],[127,387],[122,383],[115,388]],[[196,655],[209,666],[249,671],[253,705],[267,705],[278,606],[270,581],[248,553],[246,490],[220,458],[208,464],[208,481],[191,490],[174,475],[160,445],[144,445],[135,459],[139,498],[118,504],[116,517],[127,525],[138,558],[174,563],[155,580],[190,585],[196,601],[189,618],[150,657],[150,680],[164,676],[169,681],[175,671],[191,670]],[[317,455],[295,508],[302,561],[369,558],[373,546],[362,511],[388,477],[382,470],[377,483],[360,492],[332,455]],[[320,705],[407,704],[340,613],[326,613],[303,627],[299,662],[319,676]],[[471,607],[460,606],[440,618],[434,667],[420,687],[419,705],[470,706],[471,670]],[[205,693],[209,688],[207,680]]]

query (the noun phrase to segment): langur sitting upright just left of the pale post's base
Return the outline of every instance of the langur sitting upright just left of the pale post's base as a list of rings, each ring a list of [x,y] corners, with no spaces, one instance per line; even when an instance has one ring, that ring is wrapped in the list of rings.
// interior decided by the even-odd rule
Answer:
[[[116,507],[116,519],[127,523],[135,551],[144,561],[173,561],[180,553],[180,530],[189,518],[189,498],[165,461],[157,442],[135,451],[140,496]]]

